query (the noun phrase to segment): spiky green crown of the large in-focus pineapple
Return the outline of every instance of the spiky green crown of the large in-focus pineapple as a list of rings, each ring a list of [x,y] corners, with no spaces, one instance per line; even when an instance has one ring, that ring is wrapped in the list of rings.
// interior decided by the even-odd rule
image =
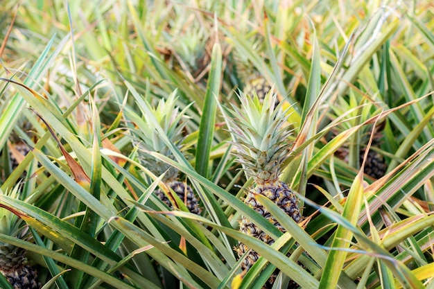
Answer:
[[[262,102],[256,92],[238,95],[241,107],[232,105],[233,110],[227,109],[229,116],[225,116],[236,148],[234,155],[257,184],[277,182],[289,157],[288,137],[293,132],[286,125],[289,107],[283,110],[281,103],[275,107],[277,94],[272,91]]]

